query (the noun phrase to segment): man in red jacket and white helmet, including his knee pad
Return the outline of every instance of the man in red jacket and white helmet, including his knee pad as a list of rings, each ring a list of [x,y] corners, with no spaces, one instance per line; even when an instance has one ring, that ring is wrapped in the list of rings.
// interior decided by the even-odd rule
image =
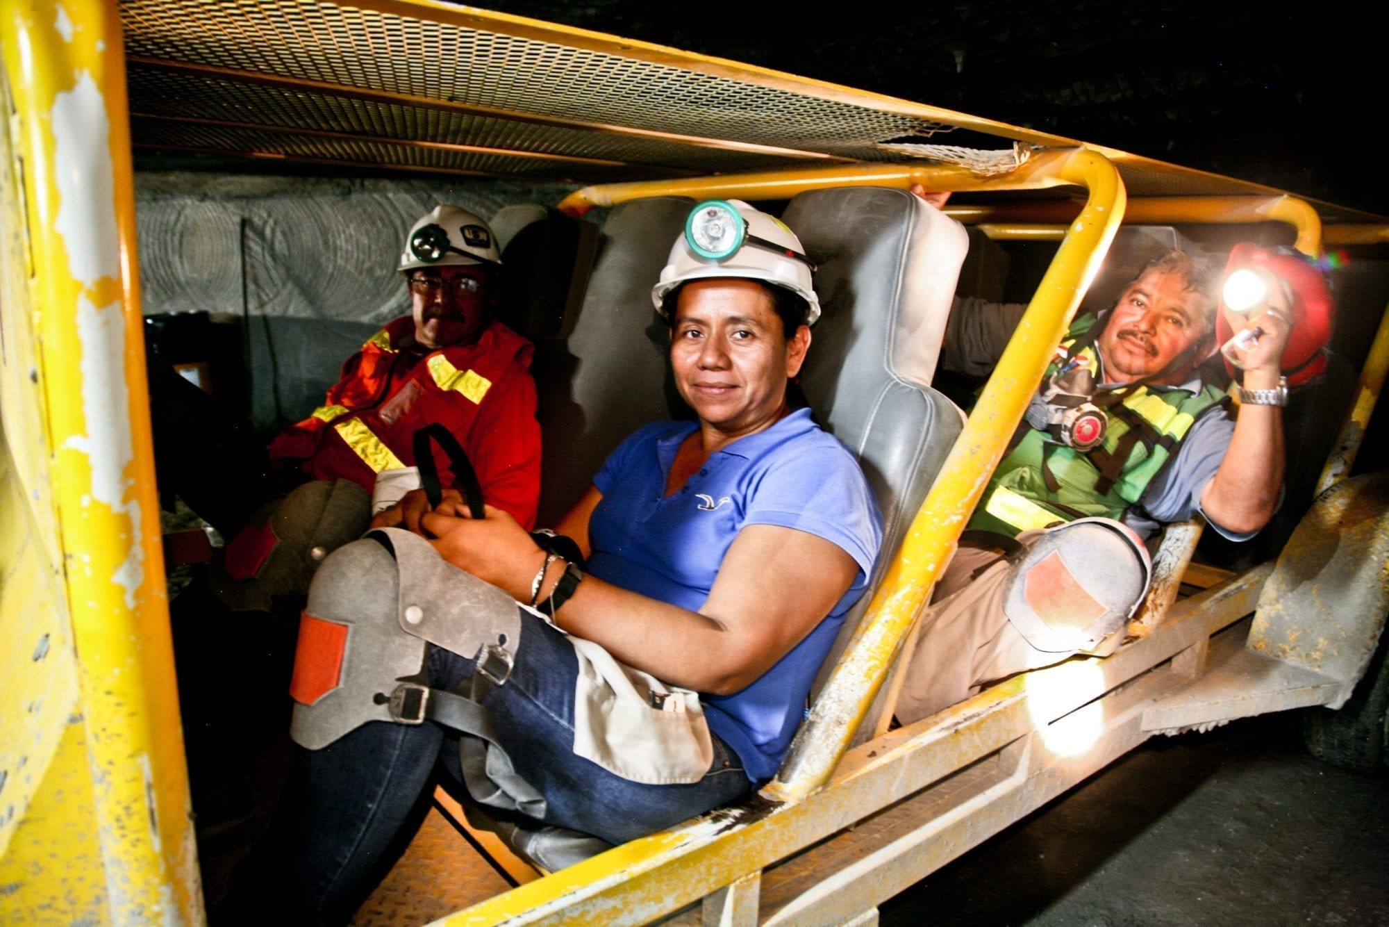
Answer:
[[[415,434],[440,424],[476,473],[489,504],[533,527],[540,495],[540,425],[532,346],[494,321],[501,257],[492,229],[456,206],[414,224],[400,256],[411,314],[347,359],[324,404],[282,431],[271,466],[308,477],[228,545],[213,586],[233,607],[267,607],[303,592],[318,561],[367,530],[378,478],[393,502],[418,486]],[[435,449],[444,486],[451,464]],[[404,479],[404,482],[401,482]]]

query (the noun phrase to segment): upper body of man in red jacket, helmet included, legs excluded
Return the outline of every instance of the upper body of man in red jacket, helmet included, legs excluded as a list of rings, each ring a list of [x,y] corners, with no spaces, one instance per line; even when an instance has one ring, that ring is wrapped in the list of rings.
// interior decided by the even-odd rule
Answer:
[[[400,256],[410,317],[347,359],[324,404],[271,443],[271,463],[371,492],[378,474],[415,466],[415,432],[439,423],[468,454],[488,503],[533,525],[540,427],[532,347],[493,321],[500,264],[492,229],[472,213],[439,206],[415,222]],[[440,463],[447,467],[443,456]]]

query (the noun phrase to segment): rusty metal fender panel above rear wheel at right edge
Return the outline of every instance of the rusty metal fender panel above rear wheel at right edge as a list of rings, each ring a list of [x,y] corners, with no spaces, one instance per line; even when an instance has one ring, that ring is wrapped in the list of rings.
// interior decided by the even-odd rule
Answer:
[[[1345,479],[1303,516],[1258,599],[1249,649],[1340,682],[1370,666],[1389,610],[1389,473]]]

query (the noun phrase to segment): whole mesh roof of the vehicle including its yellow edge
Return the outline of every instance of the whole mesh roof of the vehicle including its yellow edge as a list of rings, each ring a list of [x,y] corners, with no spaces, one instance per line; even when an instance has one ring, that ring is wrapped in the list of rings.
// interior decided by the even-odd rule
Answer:
[[[910,103],[410,0],[118,0],[146,149],[604,182],[903,161]],[[929,114],[935,114],[929,111]],[[970,121],[1008,139],[1054,136]],[[451,147],[450,147],[451,146]],[[1267,188],[1122,157],[1133,196]]]

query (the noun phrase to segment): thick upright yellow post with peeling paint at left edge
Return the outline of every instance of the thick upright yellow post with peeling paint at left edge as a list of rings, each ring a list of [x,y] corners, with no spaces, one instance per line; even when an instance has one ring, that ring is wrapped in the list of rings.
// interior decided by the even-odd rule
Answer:
[[[154,496],[121,22],[101,0],[7,3],[0,43],[22,158],[29,292],[79,699],[31,809],[63,810],[85,755],[90,819],[21,821],[0,910],[199,923],[201,894]],[[10,309],[8,306],[6,307]],[[8,428],[10,423],[6,421]],[[7,618],[13,616],[6,616]],[[7,706],[8,707],[8,706]],[[67,720],[67,719],[64,719]],[[51,777],[44,773],[53,773]],[[57,791],[57,794],[54,794]],[[81,807],[74,796],[71,807]],[[25,856],[25,853],[32,853]],[[92,866],[92,870],[81,869]],[[101,877],[96,877],[100,873]]]

